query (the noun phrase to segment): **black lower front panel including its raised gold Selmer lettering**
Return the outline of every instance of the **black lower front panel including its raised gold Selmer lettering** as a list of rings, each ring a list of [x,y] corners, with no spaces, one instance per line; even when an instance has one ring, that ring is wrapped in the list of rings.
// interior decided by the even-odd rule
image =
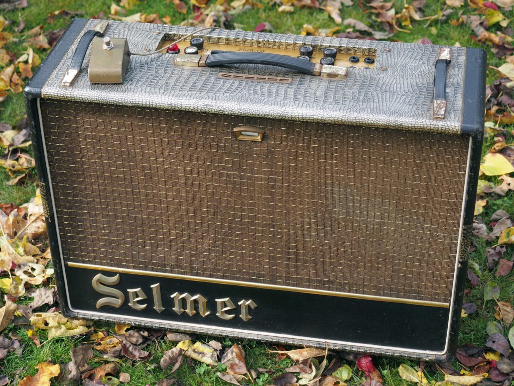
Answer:
[[[221,335],[233,330],[271,341],[293,336],[305,338],[306,344],[381,346],[406,354],[443,353],[446,346],[450,308],[442,305],[77,264],[67,265],[65,271],[69,307],[79,314],[182,330],[198,326]]]

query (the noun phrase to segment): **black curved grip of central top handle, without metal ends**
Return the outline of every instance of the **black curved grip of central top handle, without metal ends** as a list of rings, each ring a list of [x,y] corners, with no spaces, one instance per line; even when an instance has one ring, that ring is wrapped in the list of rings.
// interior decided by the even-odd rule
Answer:
[[[225,64],[266,64],[294,69],[309,75],[313,75],[315,67],[314,63],[307,60],[262,52],[224,52],[223,54],[209,55],[205,61],[206,67],[223,66]]]

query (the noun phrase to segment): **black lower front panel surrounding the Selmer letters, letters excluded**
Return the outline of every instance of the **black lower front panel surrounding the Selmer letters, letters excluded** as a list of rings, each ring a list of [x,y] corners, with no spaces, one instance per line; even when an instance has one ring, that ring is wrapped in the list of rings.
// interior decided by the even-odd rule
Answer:
[[[290,292],[205,283],[170,277],[119,273],[120,281],[111,286],[125,294],[125,301],[119,308],[103,306],[96,308],[99,299],[105,296],[96,292],[91,280],[97,274],[114,277],[116,272],[66,267],[69,285],[69,299],[76,311],[104,312],[117,314],[125,319],[155,319],[156,322],[193,323],[213,328],[230,328],[264,332],[263,339],[272,340],[269,334],[296,335],[322,341],[350,341],[356,345],[369,344],[413,350],[443,351],[446,342],[449,309],[425,305],[413,305],[348,297]],[[164,311],[153,309],[154,300],[151,285],[160,283]],[[128,305],[127,289],[141,288],[148,297],[139,304],[147,304],[141,311]],[[199,312],[189,316],[186,312],[173,311],[175,292],[201,294],[206,297],[211,313],[205,318]],[[236,316],[222,320],[216,314],[216,299],[230,297],[235,309],[228,311]],[[240,317],[237,305],[242,300],[253,300],[257,307],[249,309],[252,318],[245,322]],[[198,311],[197,304],[195,309]],[[220,331],[223,334],[223,331]]]

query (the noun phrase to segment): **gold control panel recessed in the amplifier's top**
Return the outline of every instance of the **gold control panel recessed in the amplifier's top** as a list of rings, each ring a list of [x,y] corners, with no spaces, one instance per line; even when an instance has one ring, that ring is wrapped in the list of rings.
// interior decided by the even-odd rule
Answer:
[[[174,33],[165,34],[156,49],[164,48],[169,46],[171,43],[182,38],[185,34]],[[198,37],[203,39],[203,47],[198,49],[200,55],[211,55],[215,52],[267,52],[269,54],[287,55],[290,57],[297,58],[300,55],[301,45],[297,44],[284,44],[271,41],[255,41],[255,40],[244,40],[238,39],[225,39],[219,37]],[[179,51],[173,51],[170,53],[168,50],[163,50],[162,53],[166,55],[174,54],[185,54],[186,48],[191,46],[191,39],[195,37],[187,38],[177,43]],[[329,46],[321,45],[310,45],[312,48],[310,62],[320,63],[324,58],[323,50]],[[376,62],[377,50],[374,48],[361,48],[361,47],[333,47],[337,50],[336,57],[334,58],[335,66],[340,67],[355,67],[355,68],[373,68]]]

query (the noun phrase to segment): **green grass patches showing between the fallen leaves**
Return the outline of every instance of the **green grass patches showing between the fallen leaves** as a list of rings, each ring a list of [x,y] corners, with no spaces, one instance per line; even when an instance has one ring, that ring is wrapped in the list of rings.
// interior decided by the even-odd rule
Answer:
[[[32,0],[30,5],[26,9],[14,10],[5,12],[4,17],[7,20],[12,20],[13,25],[7,27],[7,30],[12,32],[14,26],[17,25],[20,16],[23,16],[27,27],[25,31],[28,31],[32,27],[40,24],[45,25],[45,31],[63,28],[66,26],[67,20],[57,16],[53,24],[48,24],[46,17],[51,11],[56,11],[61,8],[71,11],[82,11],[81,17],[90,17],[97,15],[101,11],[106,14],[109,12],[111,6],[111,0],[97,0],[97,1],[71,1],[71,0]],[[117,3],[118,4],[118,3]],[[397,13],[403,8],[403,1],[395,1],[395,7]],[[436,14],[444,7],[444,1],[428,1],[426,6],[423,8],[425,15]],[[162,0],[146,0],[139,1],[136,3],[133,9],[128,10],[127,14],[136,12],[142,13],[158,13],[160,17],[165,15],[170,16],[172,24],[179,24],[181,21],[188,19],[192,16],[192,6],[189,5],[189,12],[187,15],[182,15],[175,10],[173,2],[167,2]],[[471,13],[472,10],[466,9],[467,13]],[[448,20],[458,19],[458,10],[455,10],[453,14],[448,16]],[[506,12],[507,17],[513,17],[514,12]],[[374,29],[380,29],[379,23],[373,22],[370,14],[365,14],[358,4],[354,4],[351,7],[343,6],[341,9],[342,19],[353,18],[363,21]],[[421,38],[428,38],[434,44],[447,44],[454,45],[456,42],[462,46],[468,47],[482,47],[486,48],[488,52],[488,61],[492,66],[499,66],[502,64],[502,60],[497,59],[492,54],[491,50],[486,45],[480,45],[476,43],[472,38],[472,31],[463,25],[452,26],[446,21],[435,21],[430,24],[429,27],[425,27],[425,22],[413,22],[413,28],[411,33],[397,32],[394,34],[393,39],[403,42],[415,42]],[[261,22],[268,22],[274,28],[275,32],[289,32],[299,33],[302,30],[304,24],[310,24],[315,28],[329,29],[335,26],[333,19],[322,10],[313,9],[295,9],[293,13],[278,13],[277,6],[269,5],[264,3],[262,8],[253,8],[244,10],[242,12],[235,12],[233,15],[232,23],[234,26],[253,30],[256,25]],[[344,31],[345,27],[341,28]],[[490,28],[491,31],[500,30],[499,26]],[[20,37],[20,43],[23,42],[25,37]],[[7,49],[11,50],[16,57],[22,55],[26,50],[26,46],[23,44],[11,43]],[[36,52],[43,58],[47,52],[36,50]],[[2,68],[0,68],[0,71]],[[492,68],[487,70],[488,82],[498,78],[498,73]],[[22,94],[10,93],[7,99],[0,103],[0,122],[8,122],[13,125],[17,120],[25,115],[24,102]],[[512,127],[510,128],[512,130]],[[514,142],[514,137],[509,135],[506,138],[507,143]],[[494,143],[492,138],[487,138],[484,144],[484,154],[488,151],[488,148]],[[15,204],[23,204],[27,202],[34,195],[35,185],[32,181],[35,180],[34,172],[30,172],[27,178],[27,182],[21,186],[8,186],[6,185],[12,177],[4,171],[0,170],[0,202],[13,202]],[[490,178],[490,181],[498,182],[496,178]],[[482,219],[486,224],[490,223],[490,217],[498,209],[504,209],[508,213],[514,213],[514,194],[509,191],[506,197],[498,200],[490,200],[486,206]],[[484,304],[483,300],[483,285],[489,281],[498,283],[501,288],[499,300],[512,302],[514,297],[514,276],[511,274],[504,277],[495,277],[494,271],[487,269],[487,258],[485,255],[486,249],[490,247],[491,243],[486,243],[483,240],[474,240],[476,244],[476,250],[470,255],[470,261],[483,269],[480,276],[480,284],[474,288],[468,287],[470,290],[470,296],[466,298],[466,302],[475,302],[478,305],[478,311],[462,321],[462,328],[460,332],[459,342],[461,344],[470,343],[477,346],[483,346],[487,340],[486,325],[488,321],[494,319],[494,301],[488,301]],[[505,258],[512,259],[513,248],[508,248]],[[96,323],[95,327],[99,330],[108,329],[114,331],[114,326],[111,324]],[[65,339],[54,339],[45,342],[41,347],[36,347],[33,341],[27,334],[27,330],[24,328],[16,328],[10,326],[6,331],[6,334],[16,331],[20,335],[22,344],[25,345],[25,349],[22,356],[8,355],[3,362],[0,363],[0,373],[12,374],[11,379],[17,374],[19,379],[25,377],[27,374],[33,375],[36,372],[35,366],[43,361],[52,360],[56,363],[66,363],[70,360],[70,348],[79,344],[87,342],[87,337],[81,338],[65,338]],[[504,331],[506,332],[506,331]],[[407,334],[407,332],[406,332]],[[430,334],[430,331],[427,331]],[[45,339],[44,331],[41,332],[41,341]],[[222,342],[224,347],[229,347],[233,343],[240,343],[246,353],[246,363],[249,369],[255,369],[256,367],[270,368],[282,372],[285,367],[290,366],[292,362],[288,359],[277,360],[275,354],[268,353],[268,349],[271,348],[270,344],[255,342],[255,341],[238,341],[228,338],[212,338],[212,337],[199,337],[198,339],[209,342],[211,339],[216,339]],[[167,349],[173,346],[172,343],[166,342],[162,339],[157,341],[151,341],[146,346],[145,350],[150,350],[153,356],[147,362],[133,362],[130,360],[124,360],[120,365],[120,371],[126,372],[131,376],[131,385],[146,385],[155,384],[159,379],[166,377],[176,377],[180,384],[197,386],[199,384],[205,385],[226,385],[227,383],[219,379],[215,373],[217,369],[211,369],[210,367],[201,366],[198,362],[194,362],[194,366],[182,365],[175,374],[170,374],[168,369],[164,374],[162,373],[159,361],[162,354]],[[101,357],[101,353],[95,351],[94,363],[98,365],[103,363],[104,360]],[[384,384],[386,385],[403,385],[406,381],[403,381],[398,373],[398,365],[401,363],[407,363],[411,366],[415,366],[418,363],[416,361],[398,359],[398,358],[375,358],[375,365],[380,370]],[[97,364],[93,364],[96,366]],[[353,377],[347,381],[348,384],[357,385],[363,380],[359,376],[362,375],[355,366],[355,362],[348,362],[348,365],[353,367]],[[455,369],[460,369],[461,366],[454,362]],[[436,371],[426,372],[428,380],[442,380],[443,375]],[[59,384],[59,383],[56,383]],[[65,383],[62,383],[65,384]],[[257,386],[264,386],[271,384],[271,378],[266,378],[264,375],[255,381]]]

